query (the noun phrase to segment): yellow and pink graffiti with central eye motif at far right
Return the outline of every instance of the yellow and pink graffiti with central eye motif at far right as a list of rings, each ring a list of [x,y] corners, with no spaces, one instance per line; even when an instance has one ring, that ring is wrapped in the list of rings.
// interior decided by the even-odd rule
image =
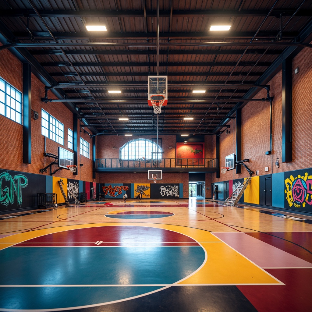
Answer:
[[[312,176],[306,172],[304,176],[292,175],[285,180],[285,194],[289,207],[294,205],[297,208],[305,207],[305,204],[312,205]]]

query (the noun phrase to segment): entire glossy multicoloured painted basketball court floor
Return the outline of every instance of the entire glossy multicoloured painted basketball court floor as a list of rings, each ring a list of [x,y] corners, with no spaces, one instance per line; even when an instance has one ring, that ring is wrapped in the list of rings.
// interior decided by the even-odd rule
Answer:
[[[312,311],[312,218],[129,199],[0,218],[1,311]]]

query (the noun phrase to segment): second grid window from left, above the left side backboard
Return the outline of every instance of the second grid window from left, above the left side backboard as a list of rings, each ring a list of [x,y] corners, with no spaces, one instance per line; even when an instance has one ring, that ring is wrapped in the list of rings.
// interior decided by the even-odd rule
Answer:
[[[64,145],[64,124],[41,110],[41,133],[47,138]]]

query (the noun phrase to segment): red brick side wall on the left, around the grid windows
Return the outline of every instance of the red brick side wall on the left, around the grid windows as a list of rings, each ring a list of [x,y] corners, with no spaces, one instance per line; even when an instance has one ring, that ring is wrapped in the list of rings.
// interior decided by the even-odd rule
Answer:
[[[23,91],[22,63],[17,60],[9,51],[1,51],[0,76],[19,91]],[[57,155],[57,148],[60,144],[46,138],[41,134],[41,108],[46,110],[53,117],[64,124],[64,148],[68,149],[68,128],[73,130],[73,113],[62,103],[43,103],[41,98],[44,97],[45,90],[41,81],[32,74],[32,119],[31,119],[31,138],[32,138],[32,158],[31,163],[23,163],[23,126],[11,119],[0,115],[0,168],[7,170],[22,171],[28,173],[36,173],[49,175],[50,169],[46,173],[40,173],[39,169],[46,167],[54,161],[53,158],[44,157],[43,153],[51,153]],[[49,91],[48,98],[57,99],[56,96]],[[39,113],[39,119],[33,119],[33,112]],[[78,163],[84,166],[78,166],[78,175],[73,175],[69,170],[60,170],[55,176],[62,178],[71,178],[82,181],[99,182],[98,179],[92,179],[92,139],[87,134],[81,133],[81,137],[90,144],[90,158],[80,156],[79,159],[79,140],[78,140]],[[57,165],[52,166],[52,172],[57,169]]]

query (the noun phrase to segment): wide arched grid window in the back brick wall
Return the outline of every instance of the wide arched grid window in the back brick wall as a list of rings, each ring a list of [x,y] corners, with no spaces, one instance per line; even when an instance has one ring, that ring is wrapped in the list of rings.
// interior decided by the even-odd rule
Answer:
[[[119,149],[121,159],[162,158],[161,149],[155,142],[148,139],[134,139]]]

